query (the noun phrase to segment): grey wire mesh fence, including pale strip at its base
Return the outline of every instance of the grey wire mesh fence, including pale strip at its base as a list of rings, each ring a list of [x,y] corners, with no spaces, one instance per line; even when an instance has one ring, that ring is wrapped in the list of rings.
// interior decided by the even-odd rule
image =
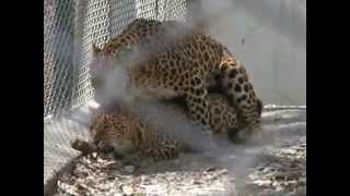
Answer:
[[[63,113],[94,94],[88,70],[88,46],[118,35],[136,17],[185,20],[185,0],[44,1],[44,184],[77,152],[69,139],[86,130]],[[62,117],[62,118],[57,118]]]

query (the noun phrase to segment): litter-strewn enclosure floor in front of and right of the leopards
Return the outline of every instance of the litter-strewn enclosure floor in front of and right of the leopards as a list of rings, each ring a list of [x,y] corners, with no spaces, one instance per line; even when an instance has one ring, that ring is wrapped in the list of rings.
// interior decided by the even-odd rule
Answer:
[[[57,195],[306,195],[306,110],[264,112],[262,142],[136,169],[106,156],[78,157]]]

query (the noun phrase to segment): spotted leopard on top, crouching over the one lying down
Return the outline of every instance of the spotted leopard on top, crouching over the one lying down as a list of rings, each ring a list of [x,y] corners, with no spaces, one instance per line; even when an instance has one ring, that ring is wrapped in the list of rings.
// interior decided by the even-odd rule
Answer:
[[[101,75],[127,64],[130,95],[151,99],[184,97],[190,118],[209,134],[215,117],[209,112],[208,89],[214,86],[236,109],[240,130],[260,123],[262,102],[242,62],[212,37],[180,22],[137,19],[103,49],[93,45],[92,51],[94,87],[104,85]],[[125,63],[122,57],[127,56],[132,61]]]

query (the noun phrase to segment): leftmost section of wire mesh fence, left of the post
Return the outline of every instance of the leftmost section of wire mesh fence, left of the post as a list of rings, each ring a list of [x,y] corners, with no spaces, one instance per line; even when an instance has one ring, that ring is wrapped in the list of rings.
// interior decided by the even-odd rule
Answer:
[[[44,1],[44,117],[63,110],[72,96],[74,2]]]

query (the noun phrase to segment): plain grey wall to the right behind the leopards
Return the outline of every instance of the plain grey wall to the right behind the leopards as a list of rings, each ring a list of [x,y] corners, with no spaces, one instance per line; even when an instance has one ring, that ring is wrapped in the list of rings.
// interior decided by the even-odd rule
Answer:
[[[264,103],[306,105],[305,0],[202,0],[201,13],[243,61]]]

